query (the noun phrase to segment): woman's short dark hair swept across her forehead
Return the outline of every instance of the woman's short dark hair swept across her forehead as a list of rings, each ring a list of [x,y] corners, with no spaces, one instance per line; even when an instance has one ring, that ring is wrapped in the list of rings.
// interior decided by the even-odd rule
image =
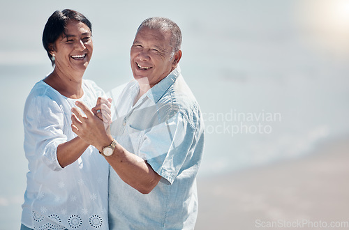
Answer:
[[[82,22],[86,24],[92,35],[92,24],[91,22],[81,13],[75,10],[56,10],[49,17],[45,24],[45,29],[43,31],[43,46],[46,49],[47,55],[50,58],[52,66],[54,66],[54,61],[52,61],[52,55],[50,51],[54,49],[54,42],[61,36],[66,33],[66,25],[69,21],[75,20],[77,22]]]

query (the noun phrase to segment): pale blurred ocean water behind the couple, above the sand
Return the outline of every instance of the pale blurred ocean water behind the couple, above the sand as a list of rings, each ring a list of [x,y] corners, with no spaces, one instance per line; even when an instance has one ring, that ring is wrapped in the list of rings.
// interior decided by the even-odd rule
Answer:
[[[106,92],[132,79],[129,49],[142,20],[179,24],[181,72],[205,119],[198,174],[205,178],[302,158],[348,135],[349,18],[336,11],[343,2],[2,1],[0,229],[20,227],[28,170],[22,112],[31,88],[52,71],[41,36],[54,10],[91,20],[94,54],[84,78]],[[317,20],[324,13],[329,23]]]

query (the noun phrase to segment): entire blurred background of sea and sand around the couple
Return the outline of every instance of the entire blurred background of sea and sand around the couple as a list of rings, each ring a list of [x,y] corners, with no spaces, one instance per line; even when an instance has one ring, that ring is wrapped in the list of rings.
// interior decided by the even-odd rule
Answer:
[[[24,102],[52,71],[41,36],[47,18],[65,8],[92,22],[84,78],[106,92],[132,79],[129,49],[142,20],[169,17],[181,28],[182,75],[207,134],[197,229],[349,221],[348,0],[1,0],[0,7],[0,229],[20,227]]]

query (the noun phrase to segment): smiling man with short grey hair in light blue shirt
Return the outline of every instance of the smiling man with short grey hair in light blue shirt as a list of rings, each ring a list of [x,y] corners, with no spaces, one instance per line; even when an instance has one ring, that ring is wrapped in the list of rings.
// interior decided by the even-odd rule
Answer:
[[[138,27],[131,47],[135,80],[114,100],[110,133],[82,102],[73,131],[112,166],[110,229],[193,229],[204,124],[181,76],[181,30],[164,17]],[[109,130],[109,129],[107,129]]]

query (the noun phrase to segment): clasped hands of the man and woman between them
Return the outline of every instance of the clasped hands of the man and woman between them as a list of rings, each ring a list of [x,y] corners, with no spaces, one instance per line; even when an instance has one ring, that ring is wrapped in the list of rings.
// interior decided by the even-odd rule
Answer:
[[[71,112],[71,129],[77,136],[102,151],[104,146],[112,142],[110,135],[110,123],[112,123],[111,109],[112,99],[98,98],[96,107],[89,109],[83,102],[77,101]]]

